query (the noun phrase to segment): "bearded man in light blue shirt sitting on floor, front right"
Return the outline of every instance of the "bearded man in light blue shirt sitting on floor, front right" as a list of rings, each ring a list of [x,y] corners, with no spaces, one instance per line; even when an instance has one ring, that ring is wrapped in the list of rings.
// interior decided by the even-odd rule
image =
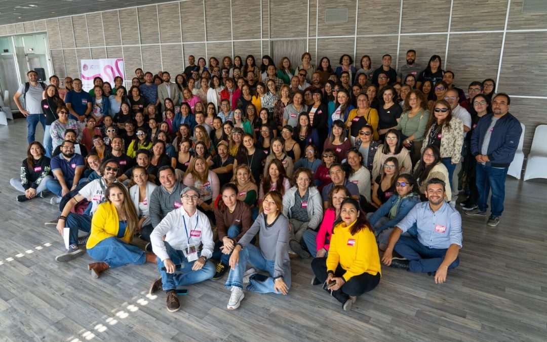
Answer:
[[[427,182],[428,201],[418,203],[389,235],[382,262],[413,272],[435,272],[435,283],[446,281],[448,269],[459,264],[462,248],[462,217],[444,201],[445,183],[438,178]],[[417,237],[401,236],[413,224]],[[393,259],[393,250],[407,260]]]

